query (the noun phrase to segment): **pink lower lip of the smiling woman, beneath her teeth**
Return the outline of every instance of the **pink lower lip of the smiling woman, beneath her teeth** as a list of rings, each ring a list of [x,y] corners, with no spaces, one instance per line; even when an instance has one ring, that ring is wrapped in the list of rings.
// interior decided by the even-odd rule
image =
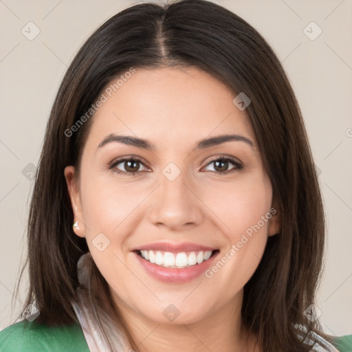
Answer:
[[[150,261],[146,261],[146,259],[143,259],[136,252],[134,252],[134,254],[137,256],[137,260],[140,261],[141,265],[144,267],[144,270],[146,270],[146,272],[148,272],[148,274],[150,274],[153,278],[163,281],[164,283],[186,283],[201,276],[201,274],[205,272],[210,265],[212,265],[219,252],[213,254],[207,261],[203,261],[203,263],[185,267],[183,269],[177,269],[175,267],[161,267],[151,263]]]

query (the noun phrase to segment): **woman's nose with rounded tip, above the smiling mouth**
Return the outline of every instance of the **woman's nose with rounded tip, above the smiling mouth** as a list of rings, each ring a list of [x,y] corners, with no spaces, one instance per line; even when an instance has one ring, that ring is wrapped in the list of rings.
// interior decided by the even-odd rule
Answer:
[[[149,213],[154,225],[164,225],[169,230],[186,230],[201,223],[204,205],[195,187],[187,182],[184,173],[170,181],[160,175],[160,185],[152,195]]]

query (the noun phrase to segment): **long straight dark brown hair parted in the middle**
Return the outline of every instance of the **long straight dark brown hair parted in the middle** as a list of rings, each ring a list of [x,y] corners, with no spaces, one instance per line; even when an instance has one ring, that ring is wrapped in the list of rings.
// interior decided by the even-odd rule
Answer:
[[[202,69],[252,100],[246,112],[272,183],[281,231],[268,239],[263,259],[244,287],[243,326],[258,336],[263,351],[309,351],[296,325],[329,337],[318,320],[303,314],[315,303],[325,245],[325,215],[305,124],[270,45],[241,17],[205,0],[143,3],[123,10],[89,37],[67,69],[47,123],[30,205],[28,259],[21,272],[29,263],[24,307],[34,304],[41,312],[36,321],[48,325],[77,322],[70,301],[78,287],[77,262],[88,247],[72,230],[64,168],[79,169],[94,117],[70,136],[67,130],[111,80],[131,67],[171,66]],[[111,300],[95,265],[94,273]]]

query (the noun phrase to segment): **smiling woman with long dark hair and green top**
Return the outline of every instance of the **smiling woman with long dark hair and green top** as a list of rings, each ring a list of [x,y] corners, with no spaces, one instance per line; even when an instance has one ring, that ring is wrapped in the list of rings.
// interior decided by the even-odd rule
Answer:
[[[296,98],[214,3],[135,5],[90,36],[28,236],[25,320],[0,351],[351,350],[315,314],[325,223]]]

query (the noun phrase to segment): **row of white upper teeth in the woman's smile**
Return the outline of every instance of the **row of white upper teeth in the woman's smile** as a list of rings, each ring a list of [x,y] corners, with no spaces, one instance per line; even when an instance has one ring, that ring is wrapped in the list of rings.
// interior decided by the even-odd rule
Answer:
[[[200,251],[200,252],[186,252],[171,253],[171,252],[160,252],[153,250],[141,250],[142,258],[155,263],[162,267],[189,267],[191,265],[201,264],[203,261],[207,261],[212,255],[212,251]]]

